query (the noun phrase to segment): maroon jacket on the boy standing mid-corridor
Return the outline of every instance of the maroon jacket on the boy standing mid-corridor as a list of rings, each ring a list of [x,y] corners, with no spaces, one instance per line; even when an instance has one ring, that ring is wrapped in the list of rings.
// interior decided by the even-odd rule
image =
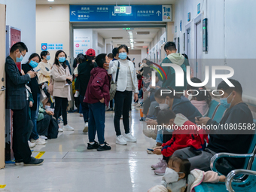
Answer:
[[[93,68],[90,72],[90,81],[84,96],[84,102],[96,103],[104,97],[105,105],[108,106],[110,80],[107,70],[101,67]]]

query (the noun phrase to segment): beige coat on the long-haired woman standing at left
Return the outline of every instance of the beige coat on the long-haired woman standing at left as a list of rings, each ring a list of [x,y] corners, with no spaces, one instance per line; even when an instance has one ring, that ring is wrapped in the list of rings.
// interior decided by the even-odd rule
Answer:
[[[53,96],[68,98],[71,101],[70,85],[66,82],[68,77],[72,77],[69,67],[64,69],[62,66],[53,65],[51,75],[53,76]]]

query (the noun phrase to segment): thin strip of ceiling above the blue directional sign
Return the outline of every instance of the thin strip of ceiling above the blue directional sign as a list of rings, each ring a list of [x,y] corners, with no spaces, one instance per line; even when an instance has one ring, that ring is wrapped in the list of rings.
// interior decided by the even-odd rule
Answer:
[[[48,2],[47,0],[36,0],[37,5],[42,5],[42,4],[48,4],[48,5],[53,5],[53,4],[80,4],[80,5],[86,5],[86,4],[91,4],[91,5],[113,5],[113,4],[122,4],[122,5],[128,5],[129,2],[130,4],[133,5],[164,5],[164,4],[174,4],[176,0],[55,0],[54,2]]]

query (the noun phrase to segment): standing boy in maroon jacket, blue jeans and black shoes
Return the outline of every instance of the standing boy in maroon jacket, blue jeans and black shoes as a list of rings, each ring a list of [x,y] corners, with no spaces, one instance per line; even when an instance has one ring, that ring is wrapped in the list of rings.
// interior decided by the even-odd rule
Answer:
[[[96,56],[98,67],[90,72],[90,81],[84,96],[84,102],[89,106],[89,142],[87,149],[97,151],[111,150],[105,142],[105,105],[110,101],[109,89],[111,78],[108,75],[110,59],[107,54],[102,53]],[[95,141],[97,132],[98,142]]]

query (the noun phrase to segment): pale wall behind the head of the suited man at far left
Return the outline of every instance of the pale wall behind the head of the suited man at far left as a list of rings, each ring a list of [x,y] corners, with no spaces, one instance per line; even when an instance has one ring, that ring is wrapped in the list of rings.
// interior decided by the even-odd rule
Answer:
[[[29,49],[23,62],[35,53],[35,0],[0,0],[6,5],[6,25],[21,30],[21,41]]]

